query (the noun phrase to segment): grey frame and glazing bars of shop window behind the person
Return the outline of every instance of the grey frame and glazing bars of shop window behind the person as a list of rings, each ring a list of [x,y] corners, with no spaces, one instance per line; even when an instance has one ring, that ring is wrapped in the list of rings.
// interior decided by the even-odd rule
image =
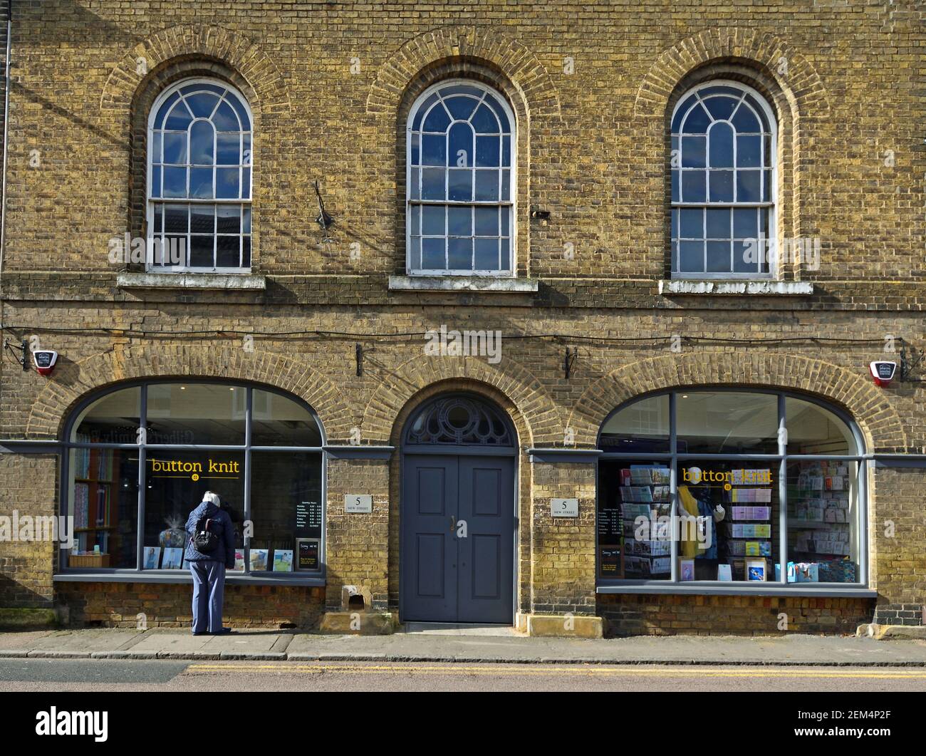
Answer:
[[[139,423],[140,427],[146,427],[147,421],[147,397],[148,387],[152,385],[163,384],[180,384],[180,385],[220,385],[223,387],[235,387],[245,389],[245,407],[244,407],[244,444],[118,444],[118,443],[80,443],[71,440],[71,436],[77,429],[78,420],[81,413],[94,404],[99,399],[118,391],[139,388],[141,392],[139,404]],[[251,444],[252,435],[252,417],[254,409],[254,391],[266,391],[283,397],[303,407],[308,411],[312,419],[316,422],[319,429],[320,445],[318,447],[286,447],[286,446],[254,446]],[[250,571],[250,560],[248,558],[248,547],[244,547],[244,571],[227,571],[225,573],[226,582],[230,584],[250,584],[250,585],[289,585],[289,586],[325,586],[327,575],[327,523],[328,523],[328,452],[325,429],[322,425],[318,413],[307,404],[306,401],[294,394],[290,394],[282,389],[265,384],[249,383],[246,381],[234,380],[212,380],[209,378],[150,378],[142,381],[127,381],[120,384],[114,384],[103,391],[97,391],[83,397],[81,401],[71,410],[68,422],[65,424],[63,438],[60,442],[61,447],[61,475],[58,487],[59,513],[67,516],[69,514],[69,488],[70,479],[70,451],[74,448],[108,448],[108,449],[131,449],[138,451],[138,500],[137,500],[137,525],[136,525],[136,554],[135,567],[69,567],[68,558],[65,549],[57,549],[59,552],[59,562],[54,575],[56,581],[66,582],[94,582],[94,581],[115,581],[115,582],[137,582],[137,583],[192,583],[193,578],[189,570],[144,570],[144,499],[145,499],[145,472],[146,472],[146,453],[149,449],[169,450],[169,451],[201,451],[208,449],[210,451],[236,451],[244,454],[244,512],[243,521],[251,519],[251,471],[252,460],[251,453],[257,452],[280,452],[281,454],[292,454],[294,452],[318,453],[321,461],[321,532],[319,536],[319,569],[316,571],[297,571],[292,573],[274,573],[271,571],[260,571],[252,573]],[[294,553],[294,562],[297,555]]]

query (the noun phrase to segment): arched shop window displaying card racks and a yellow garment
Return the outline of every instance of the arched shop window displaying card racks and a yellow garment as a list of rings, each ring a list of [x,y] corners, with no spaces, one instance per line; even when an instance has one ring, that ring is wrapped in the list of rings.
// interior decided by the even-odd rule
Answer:
[[[599,583],[866,584],[864,450],[838,410],[678,389],[619,408],[599,448]]]

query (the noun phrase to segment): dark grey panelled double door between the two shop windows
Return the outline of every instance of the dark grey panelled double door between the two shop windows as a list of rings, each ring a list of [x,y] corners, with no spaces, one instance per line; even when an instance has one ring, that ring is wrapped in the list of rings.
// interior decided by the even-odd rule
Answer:
[[[514,464],[512,457],[405,457],[403,620],[512,622]]]

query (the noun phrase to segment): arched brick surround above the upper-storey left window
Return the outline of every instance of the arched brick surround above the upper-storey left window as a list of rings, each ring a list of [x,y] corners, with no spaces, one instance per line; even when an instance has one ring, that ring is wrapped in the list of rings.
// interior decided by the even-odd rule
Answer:
[[[264,113],[288,113],[289,90],[270,57],[246,37],[219,26],[182,24],[158,31],[131,48],[109,74],[100,109],[131,107],[149,71],[171,60],[202,57],[219,60],[244,77],[257,94],[251,107]],[[144,58],[144,65],[140,65]]]

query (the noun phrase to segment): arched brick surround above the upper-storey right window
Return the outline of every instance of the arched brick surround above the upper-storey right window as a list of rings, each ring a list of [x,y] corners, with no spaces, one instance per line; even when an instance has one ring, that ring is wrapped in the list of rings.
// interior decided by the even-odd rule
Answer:
[[[701,31],[657,57],[637,90],[634,115],[664,119],[676,85],[712,61],[752,62],[765,69],[781,87],[795,116],[819,117],[830,111],[826,87],[806,57],[774,34],[730,27]]]

